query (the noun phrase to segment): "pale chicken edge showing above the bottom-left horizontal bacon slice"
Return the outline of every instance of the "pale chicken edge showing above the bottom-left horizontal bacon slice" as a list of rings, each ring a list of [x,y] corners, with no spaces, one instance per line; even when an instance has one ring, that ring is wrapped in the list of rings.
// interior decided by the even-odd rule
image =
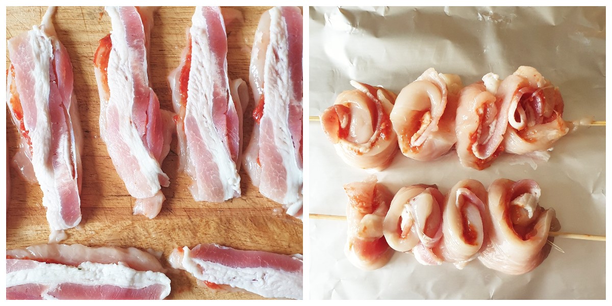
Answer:
[[[7,258],[32,259],[45,263],[78,266],[86,261],[100,264],[123,264],[138,271],[163,272],[159,260],[138,248],[86,247],[82,244],[37,244],[6,251]]]

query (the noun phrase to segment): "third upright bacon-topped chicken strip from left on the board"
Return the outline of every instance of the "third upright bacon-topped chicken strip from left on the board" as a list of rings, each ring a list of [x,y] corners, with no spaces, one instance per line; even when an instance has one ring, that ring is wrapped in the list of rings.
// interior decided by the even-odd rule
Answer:
[[[172,88],[181,168],[193,179],[196,201],[239,197],[242,109],[246,83],[230,82],[227,37],[219,7],[196,7],[179,67],[168,77]]]

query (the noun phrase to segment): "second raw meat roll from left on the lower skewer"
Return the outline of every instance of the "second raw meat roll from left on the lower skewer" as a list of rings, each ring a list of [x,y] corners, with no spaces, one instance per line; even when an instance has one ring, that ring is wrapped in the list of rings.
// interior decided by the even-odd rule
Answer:
[[[384,236],[399,252],[412,250],[422,264],[441,264],[432,251],[442,236],[444,196],[435,185],[412,185],[398,191],[384,218]]]

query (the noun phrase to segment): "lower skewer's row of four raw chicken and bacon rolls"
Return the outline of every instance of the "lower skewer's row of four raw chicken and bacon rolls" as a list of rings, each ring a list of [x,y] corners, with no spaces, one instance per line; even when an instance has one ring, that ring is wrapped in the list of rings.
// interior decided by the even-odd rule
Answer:
[[[541,190],[531,179],[498,179],[488,191],[467,179],[446,197],[435,185],[411,185],[390,200],[375,176],[345,190],[346,254],[366,270],[384,266],[394,249],[412,252],[425,265],[449,262],[463,269],[478,258],[491,269],[524,274],[547,258],[548,233],[560,228],[554,209],[539,206]]]

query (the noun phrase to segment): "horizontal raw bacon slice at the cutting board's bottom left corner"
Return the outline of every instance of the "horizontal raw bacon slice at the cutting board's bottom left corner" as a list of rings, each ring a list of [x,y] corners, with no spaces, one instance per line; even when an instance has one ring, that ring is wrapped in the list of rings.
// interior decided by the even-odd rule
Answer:
[[[7,299],[163,299],[170,279],[121,264],[78,266],[7,259]]]

